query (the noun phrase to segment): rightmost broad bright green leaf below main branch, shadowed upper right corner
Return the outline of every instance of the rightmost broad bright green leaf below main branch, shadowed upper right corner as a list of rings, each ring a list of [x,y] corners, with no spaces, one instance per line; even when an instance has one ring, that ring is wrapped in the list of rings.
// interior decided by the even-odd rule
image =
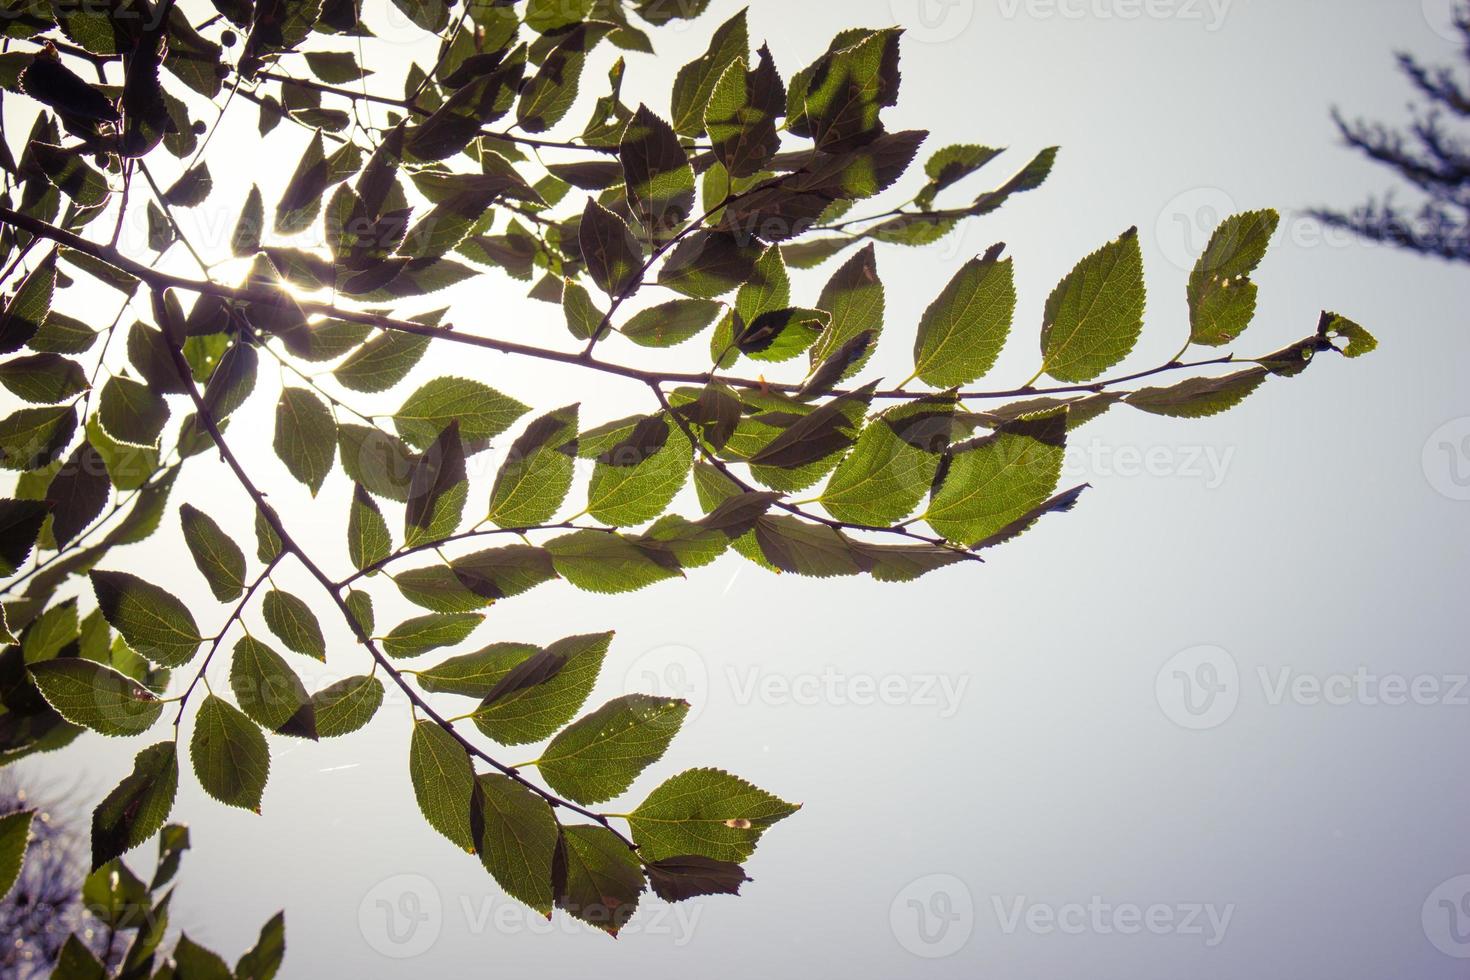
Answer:
[[[1057,488],[1066,435],[1066,413],[1055,413],[954,447],[925,520],[966,547],[1005,529]]]

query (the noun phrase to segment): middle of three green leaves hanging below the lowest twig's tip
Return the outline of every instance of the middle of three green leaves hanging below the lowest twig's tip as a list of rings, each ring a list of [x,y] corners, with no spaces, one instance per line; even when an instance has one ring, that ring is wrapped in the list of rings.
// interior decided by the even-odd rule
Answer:
[[[506,892],[551,915],[551,862],[560,836],[551,807],[509,776],[475,780],[479,860]]]

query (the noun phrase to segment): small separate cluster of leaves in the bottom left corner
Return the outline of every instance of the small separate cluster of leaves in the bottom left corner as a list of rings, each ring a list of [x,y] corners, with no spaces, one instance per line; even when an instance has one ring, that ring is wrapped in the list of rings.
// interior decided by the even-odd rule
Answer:
[[[148,779],[168,779],[162,754],[172,745],[146,749],[153,757],[151,771],[134,774],[123,782],[93,817],[93,836],[107,835],[126,821],[128,811],[148,811],[156,807],[156,795],[148,792]],[[141,760],[141,757],[140,757]],[[178,779],[178,774],[173,774]],[[169,785],[172,793],[172,783]],[[51,970],[53,980],[162,980],[172,977],[207,977],[220,980],[270,980],[285,958],[285,914],[276,912],[260,927],[254,946],[240,956],[234,970],[206,949],[188,933],[181,933],[173,949],[165,946],[169,932],[169,908],[173,902],[175,877],[184,852],[190,849],[190,832],[182,824],[163,826],[162,817],[146,839],[156,837],[159,846],[153,874],[138,877],[121,858],[96,861],[81,884],[81,907],[88,917],[85,932],[74,932]],[[26,860],[34,811],[21,810],[0,817],[0,898],[15,886]],[[146,820],[151,821],[150,817]],[[141,843],[137,840],[135,843]],[[106,946],[98,936],[107,936]]]

